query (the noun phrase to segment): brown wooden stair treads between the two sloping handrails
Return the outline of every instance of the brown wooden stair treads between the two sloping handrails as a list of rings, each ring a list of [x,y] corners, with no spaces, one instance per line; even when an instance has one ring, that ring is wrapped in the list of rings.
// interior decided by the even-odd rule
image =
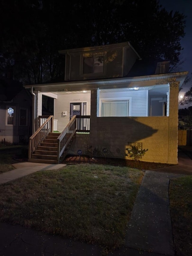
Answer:
[[[58,164],[58,136],[60,133],[49,132],[46,139],[40,146],[31,154],[29,162],[44,163],[44,164]]]

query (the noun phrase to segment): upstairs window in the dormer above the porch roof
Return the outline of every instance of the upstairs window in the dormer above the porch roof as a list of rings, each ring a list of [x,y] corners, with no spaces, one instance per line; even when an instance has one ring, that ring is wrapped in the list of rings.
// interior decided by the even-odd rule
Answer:
[[[104,73],[104,56],[83,58],[83,74]]]

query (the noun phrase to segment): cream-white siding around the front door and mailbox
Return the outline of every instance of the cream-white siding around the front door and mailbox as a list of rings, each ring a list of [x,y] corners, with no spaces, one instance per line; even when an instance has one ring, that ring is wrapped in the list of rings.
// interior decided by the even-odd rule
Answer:
[[[64,94],[58,93],[57,99],[55,99],[55,110],[54,110],[54,119],[57,119],[57,130],[63,131],[67,126],[70,120],[70,103],[87,103],[87,115],[91,114],[91,93],[82,94]],[[63,111],[67,111],[67,115],[63,116]]]

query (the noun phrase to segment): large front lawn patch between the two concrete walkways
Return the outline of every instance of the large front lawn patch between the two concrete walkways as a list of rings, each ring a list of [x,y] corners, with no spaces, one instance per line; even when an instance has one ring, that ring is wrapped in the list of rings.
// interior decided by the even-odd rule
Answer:
[[[112,249],[123,245],[143,172],[79,164],[0,186],[0,221]]]

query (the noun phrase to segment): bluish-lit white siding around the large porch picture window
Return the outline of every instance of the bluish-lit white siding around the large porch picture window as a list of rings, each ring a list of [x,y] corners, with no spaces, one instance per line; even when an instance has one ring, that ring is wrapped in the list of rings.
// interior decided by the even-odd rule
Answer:
[[[135,91],[135,92],[101,92],[100,102],[107,100],[107,98],[113,99],[129,99],[131,102],[129,108],[131,110],[130,116],[147,116],[148,110],[148,91]],[[101,113],[101,112],[100,112]]]

